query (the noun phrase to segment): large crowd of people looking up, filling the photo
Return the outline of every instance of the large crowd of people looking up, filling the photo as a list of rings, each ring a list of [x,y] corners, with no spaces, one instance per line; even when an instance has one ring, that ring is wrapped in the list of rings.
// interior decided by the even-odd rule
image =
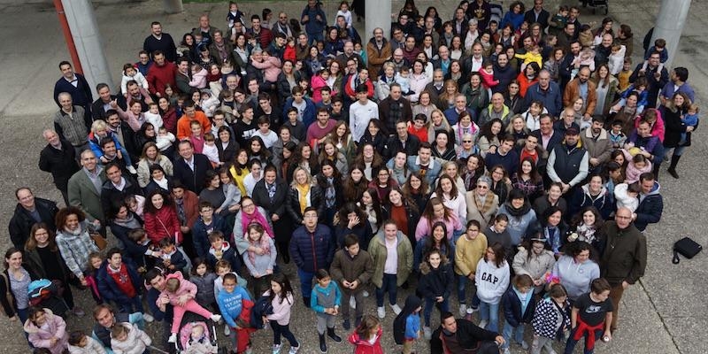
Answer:
[[[356,353],[382,353],[384,333],[406,354],[612,340],[661,219],[660,166],[679,178],[698,124],[666,41],[633,63],[631,24],[543,0],[406,0],[368,42],[361,1],[334,19],[316,0],[226,10],[179,42],[152,22],[96,100],[58,65],[39,168],[64,206],[17,189],[0,279],[36,353],[216,353],[222,331],[271,352],[250,345],[269,324],[272,352],[285,337],[295,354],[304,311],[321,352],[338,326]],[[77,289],[90,333],[63,319],[85,315]]]

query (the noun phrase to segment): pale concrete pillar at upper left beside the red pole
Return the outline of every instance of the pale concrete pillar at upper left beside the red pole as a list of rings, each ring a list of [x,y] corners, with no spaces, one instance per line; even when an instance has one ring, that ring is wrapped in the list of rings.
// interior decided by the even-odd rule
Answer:
[[[73,42],[81,60],[83,74],[89,81],[91,91],[96,94],[96,84],[105,82],[114,88],[108,61],[104,55],[104,45],[98,32],[96,15],[89,0],[62,0],[66,20],[72,30]]]

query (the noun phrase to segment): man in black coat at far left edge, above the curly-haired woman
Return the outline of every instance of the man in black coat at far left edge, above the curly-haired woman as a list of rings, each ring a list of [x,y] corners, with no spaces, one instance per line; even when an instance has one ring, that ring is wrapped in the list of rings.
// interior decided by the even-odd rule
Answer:
[[[50,230],[56,230],[54,217],[59,211],[57,203],[48,199],[35,198],[32,190],[21,187],[15,191],[18,204],[7,227],[10,231],[10,241],[19,250],[25,249],[25,242],[35,223],[43,222]]]

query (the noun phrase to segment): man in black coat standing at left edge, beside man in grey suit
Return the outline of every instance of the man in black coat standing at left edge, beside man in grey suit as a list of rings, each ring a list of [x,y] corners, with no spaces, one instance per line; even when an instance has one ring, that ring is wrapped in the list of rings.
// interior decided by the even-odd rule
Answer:
[[[39,169],[51,173],[54,185],[64,197],[64,204],[68,205],[69,179],[80,168],[76,163],[76,151],[69,142],[59,140],[59,135],[54,130],[46,129],[42,136],[47,141],[47,146],[39,154]]]

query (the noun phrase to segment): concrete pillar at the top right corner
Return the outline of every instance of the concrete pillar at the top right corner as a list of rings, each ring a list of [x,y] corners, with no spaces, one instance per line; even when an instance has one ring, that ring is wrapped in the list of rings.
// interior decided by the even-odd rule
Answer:
[[[657,24],[651,36],[650,47],[654,45],[654,40],[664,38],[666,40],[666,50],[669,59],[664,64],[671,67],[676,51],[679,49],[681,33],[686,24],[686,17],[689,15],[691,0],[662,0],[661,9],[658,11]]]

